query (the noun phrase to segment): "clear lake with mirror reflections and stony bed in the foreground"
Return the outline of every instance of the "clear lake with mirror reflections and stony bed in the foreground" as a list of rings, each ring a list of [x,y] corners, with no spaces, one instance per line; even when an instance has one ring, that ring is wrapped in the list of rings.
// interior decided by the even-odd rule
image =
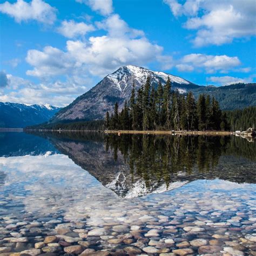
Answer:
[[[235,136],[1,132],[0,255],[256,255],[255,172]]]

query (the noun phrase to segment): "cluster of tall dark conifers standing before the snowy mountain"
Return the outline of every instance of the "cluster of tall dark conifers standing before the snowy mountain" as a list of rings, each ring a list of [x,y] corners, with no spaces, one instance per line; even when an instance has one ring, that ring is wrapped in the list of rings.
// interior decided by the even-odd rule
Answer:
[[[227,116],[218,101],[209,95],[199,95],[195,100],[192,92],[185,96],[171,90],[170,78],[166,84],[156,86],[147,77],[145,85],[137,91],[133,84],[131,98],[119,112],[106,112],[106,130],[228,130]]]

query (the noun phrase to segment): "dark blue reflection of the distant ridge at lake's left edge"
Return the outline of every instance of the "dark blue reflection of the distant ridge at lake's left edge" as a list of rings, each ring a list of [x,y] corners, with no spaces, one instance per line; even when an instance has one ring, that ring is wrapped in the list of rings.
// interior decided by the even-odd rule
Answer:
[[[0,157],[38,156],[45,153],[57,153],[49,140],[23,132],[0,132]]]

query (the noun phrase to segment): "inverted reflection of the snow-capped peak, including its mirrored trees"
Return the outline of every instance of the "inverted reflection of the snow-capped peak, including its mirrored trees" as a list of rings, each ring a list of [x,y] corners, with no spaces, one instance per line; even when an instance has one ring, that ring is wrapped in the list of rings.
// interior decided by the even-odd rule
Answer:
[[[245,147],[245,156],[255,159],[254,145],[240,138],[129,134],[104,137],[98,133],[76,133],[73,139],[72,133],[44,136],[120,197],[164,192],[197,179],[256,183],[255,163],[237,158],[243,156]]]

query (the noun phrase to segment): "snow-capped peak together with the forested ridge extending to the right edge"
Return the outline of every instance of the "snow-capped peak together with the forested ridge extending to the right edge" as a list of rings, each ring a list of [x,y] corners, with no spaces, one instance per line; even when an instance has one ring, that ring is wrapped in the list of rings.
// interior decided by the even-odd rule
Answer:
[[[154,85],[159,82],[164,84],[170,77],[172,90],[178,90],[181,93],[192,91],[196,98],[200,93],[210,94],[217,98],[223,110],[242,109],[256,105],[256,84],[234,84],[220,87],[199,86],[164,72],[127,65],[104,77],[91,90],[60,110],[51,119],[51,123],[102,119],[106,111],[113,111],[114,103],[118,102],[121,109],[124,101],[130,99],[132,84],[134,83],[138,89],[145,84],[148,76],[151,77],[151,82]]]

